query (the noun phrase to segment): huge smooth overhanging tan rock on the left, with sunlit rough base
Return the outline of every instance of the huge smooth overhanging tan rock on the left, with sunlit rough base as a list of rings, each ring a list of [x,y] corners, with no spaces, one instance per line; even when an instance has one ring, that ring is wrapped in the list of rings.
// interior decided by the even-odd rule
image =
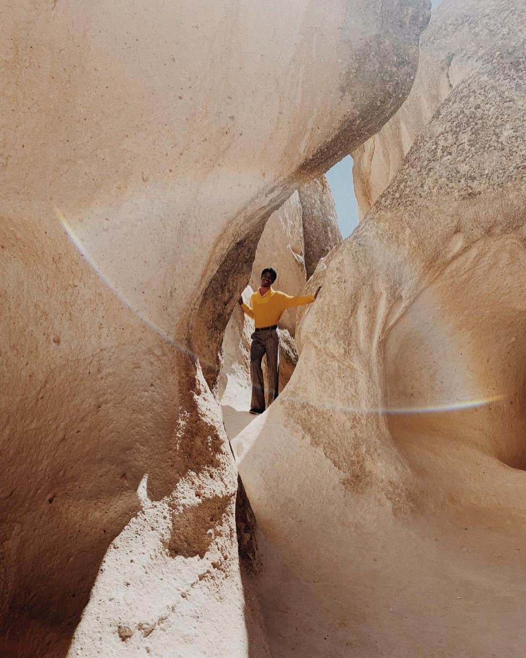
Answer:
[[[428,7],[3,7],[0,653],[64,655],[97,574],[74,653],[257,638],[222,335],[266,219],[406,97]]]

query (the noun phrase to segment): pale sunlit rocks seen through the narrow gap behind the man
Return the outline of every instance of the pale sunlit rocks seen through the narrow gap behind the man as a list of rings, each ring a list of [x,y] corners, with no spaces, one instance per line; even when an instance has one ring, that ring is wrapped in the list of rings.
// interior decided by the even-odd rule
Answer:
[[[265,225],[254,253],[254,262],[242,296],[249,303],[258,290],[264,267],[277,267],[274,287],[289,295],[313,292],[307,286],[316,266],[342,241],[335,203],[325,176],[314,179],[295,191]],[[322,267],[322,265],[320,266]],[[287,309],[279,320],[279,387],[281,394],[298,361],[295,345],[296,322],[306,307]],[[250,346],[254,322],[235,305],[226,326],[222,348],[222,367],[216,398],[220,401],[229,440],[254,419],[249,414],[251,400]],[[263,370],[267,380],[266,357]],[[266,395],[268,405],[268,392]]]

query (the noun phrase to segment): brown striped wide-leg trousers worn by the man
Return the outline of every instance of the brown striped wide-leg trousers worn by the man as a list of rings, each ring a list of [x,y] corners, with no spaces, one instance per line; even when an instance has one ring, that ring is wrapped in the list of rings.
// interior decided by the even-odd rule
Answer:
[[[261,362],[266,354],[268,403],[274,402],[277,397],[277,371],[279,368],[279,336],[275,329],[254,331],[251,336],[251,382],[252,382],[252,409],[265,409],[265,384]]]

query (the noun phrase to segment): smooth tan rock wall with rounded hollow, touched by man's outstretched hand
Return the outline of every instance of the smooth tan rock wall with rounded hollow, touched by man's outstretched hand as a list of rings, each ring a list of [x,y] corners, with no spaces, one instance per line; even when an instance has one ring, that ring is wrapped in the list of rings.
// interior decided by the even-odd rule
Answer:
[[[276,656],[526,651],[525,5],[439,12],[423,41],[447,35],[465,73],[327,259],[286,392],[234,443]]]

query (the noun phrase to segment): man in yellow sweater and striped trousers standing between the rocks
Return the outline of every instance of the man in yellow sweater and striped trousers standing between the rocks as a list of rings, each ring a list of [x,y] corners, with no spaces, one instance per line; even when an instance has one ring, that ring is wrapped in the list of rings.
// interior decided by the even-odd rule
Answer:
[[[267,355],[268,403],[271,404],[277,397],[279,336],[276,329],[279,318],[285,309],[312,303],[318,297],[322,287],[320,286],[314,295],[291,297],[291,295],[272,288],[276,278],[277,273],[274,268],[264,268],[261,272],[261,286],[252,295],[251,306],[247,306],[243,303],[243,298],[239,297],[239,305],[249,317],[254,318],[256,325],[256,330],[251,336],[252,401],[250,412],[254,414],[265,411],[265,385],[261,369],[261,361],[265,353]]]

